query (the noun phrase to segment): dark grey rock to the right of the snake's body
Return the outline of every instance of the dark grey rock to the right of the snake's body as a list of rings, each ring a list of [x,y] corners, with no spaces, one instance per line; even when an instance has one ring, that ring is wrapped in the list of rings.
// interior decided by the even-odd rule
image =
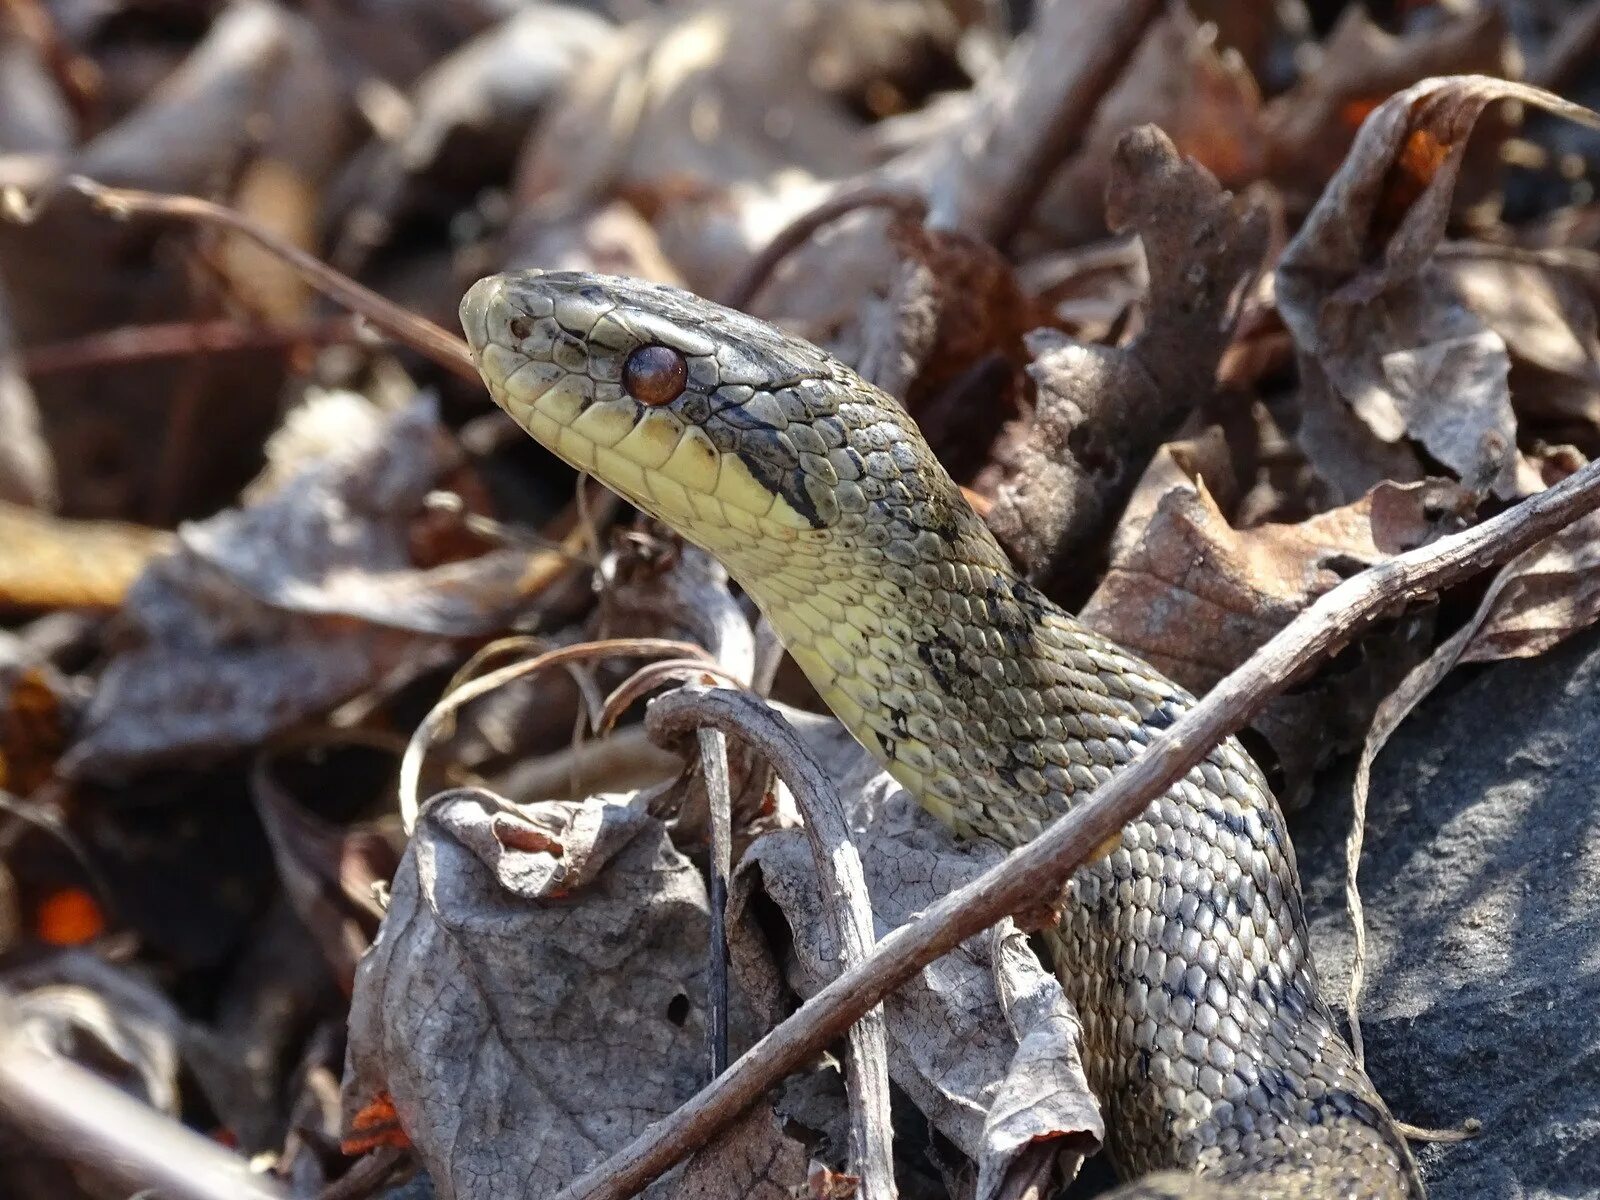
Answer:
[[[1366,1062],[1432,1200],[1600,1192],[1600,634],[1424,704],[1373,771]],[[1323,995],[1342,1003],[1350,770],[1294,829]]]

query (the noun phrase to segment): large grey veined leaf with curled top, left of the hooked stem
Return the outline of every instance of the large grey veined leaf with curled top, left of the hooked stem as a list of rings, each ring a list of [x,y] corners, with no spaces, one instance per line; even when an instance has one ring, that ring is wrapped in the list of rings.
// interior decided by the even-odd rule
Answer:
[[[445,1200],[560,1190],[704,1082],[706,906],[616,798],[435,797],[357,973],[346,1130],[392,1112]]]

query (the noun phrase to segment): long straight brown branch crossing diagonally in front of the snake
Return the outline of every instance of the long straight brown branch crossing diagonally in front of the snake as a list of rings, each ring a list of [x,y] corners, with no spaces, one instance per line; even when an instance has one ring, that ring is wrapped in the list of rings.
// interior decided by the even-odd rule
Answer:
[[[555,1200],[624,1200],[731,1125],[768,1088],[805,1066],[926,963],[1002,917],[1059,891],[1115,837],[1290,680],[1382,614],[1496,566],[1600,506],[1600,462],[1482,525],[1362,571],[1323,595],[1157,734],[1094,795],[920,920],[890,933],[757,1042],[718,1080],[562,1189]],[[656,704],[664,704],[662,698]]]

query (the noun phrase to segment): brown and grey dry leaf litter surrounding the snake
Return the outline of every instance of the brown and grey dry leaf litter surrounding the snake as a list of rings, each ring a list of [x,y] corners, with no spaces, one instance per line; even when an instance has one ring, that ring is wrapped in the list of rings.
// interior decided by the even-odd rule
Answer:
[[[840,971],[754,726],[720,795],[642,720],[683,683],[765,686],[749,603],[574,486],[450,336],[374,336],[274,245],[446,328],[512,266],[738,291],[904,400],[1019,571],[1203,693],[1342,579],[1600,454],[1600,142],[1530,117],[1590,122],[1600,78],[1562,21],[1469,8],[8,13],[8,1035],[285,1195],[542,1195],[707,1078],[718,822],[722,1050]],[[1560,98],[1518,77],[1547,53]],[[112,221],[74,173],[222,202],[269,245]],[[1389,734],[1462,664],[1594,624],[1595,546],[1584,518],[1414,598],[1256,718],[1286,806],[1360,749],[1352,878]],[[563,669],[442,709],[483,654]],[[771,694],[840,794],[875,938],[997,861],[806,715],[792,664]],[[1093,1157],[1077,1014],[1016,922],[883,1029],[883,1064],[842,1043],[651,1192],[998,1197]],[[37,1149],[0,1187],[94,1194]]]

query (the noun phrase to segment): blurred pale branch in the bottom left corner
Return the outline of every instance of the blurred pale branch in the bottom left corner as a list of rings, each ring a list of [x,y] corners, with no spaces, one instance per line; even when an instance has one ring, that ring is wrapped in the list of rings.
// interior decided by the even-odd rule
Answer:
[[[163,1200],[290,1200],[277,1179],[70,1059],[19,1037],[0,1045],[0,1117],[30,1144],[130,1194]]]

